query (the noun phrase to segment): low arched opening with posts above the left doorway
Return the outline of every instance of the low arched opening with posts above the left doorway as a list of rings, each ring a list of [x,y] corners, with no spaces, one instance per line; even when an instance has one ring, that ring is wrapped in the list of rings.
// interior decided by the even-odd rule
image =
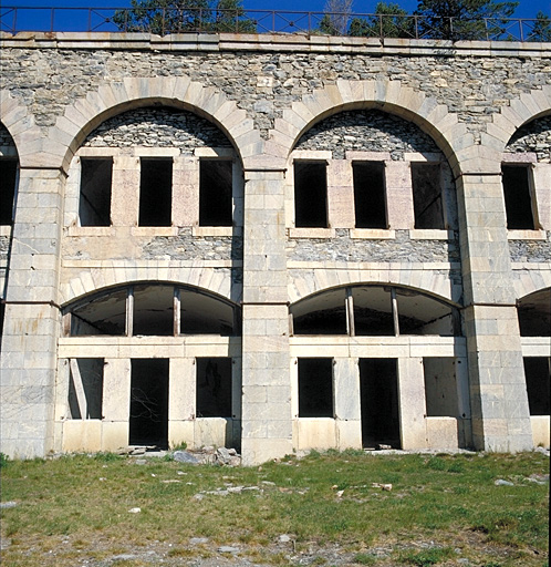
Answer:
[[[62,306],[64,336],[240,334],[240,308],[211,291],[179,282],[133,281]]]

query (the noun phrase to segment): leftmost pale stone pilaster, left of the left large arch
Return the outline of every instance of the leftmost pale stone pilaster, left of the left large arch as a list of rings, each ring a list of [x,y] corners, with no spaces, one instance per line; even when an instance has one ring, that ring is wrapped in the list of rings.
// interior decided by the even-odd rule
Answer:
[[[1,451],[44,456],[53,447],[59,262],[64,175],[20,172],[1,355]]]

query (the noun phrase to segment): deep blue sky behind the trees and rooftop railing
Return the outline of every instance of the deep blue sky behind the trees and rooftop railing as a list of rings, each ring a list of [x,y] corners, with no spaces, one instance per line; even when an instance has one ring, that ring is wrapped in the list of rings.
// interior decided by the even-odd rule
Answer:
[[[412,13],[417,7],[417,0],[388,0],[398,3],[408,13]],[[497,0],[499,1],[499,0]],[[312,11],[321,12],[325,7],[326,0],[278,0],[269,2],[267,0],[242,0],[242,6],[248,10],[278,10],[278,11]],[[353,11],[356,13],[373,13],[377,0],[355,0]],[[0,0],[1,13],[6,8],[25,8],[25,7],[59,7],[59,8],[125,8],[131,6],[131,0]],[[514,12],[514,18],[536,18],[539,11],[551,14],[551,0],[520,0],[519,7]],[[32,14],[32,16],[31,16]],[[11,16],[2,18],[6,25],[12,25]],[[38,19],[41,25],[37,27]],[[62,23],[63,22],[63,23]],[[79,22],[79,23],[77,23]],[[83,22],[83,23],[81,23]],[[55,18],[55,30],[81,31],[85,27],[86,13],[60,11]],[[299,22],[303,24],[303,21]],[[304,24],[305,25],[305,24]],[[44,28],[45,27],[45,28]],[[24,10],[18,12],[17,29],[22,30],[43,30],[50,27],[50,13],[46,10],[31,11]],[[6,29],[2,25],[2,29]],[[105,29],[100,31],[107,31]],[[288,31],[288,30],[285,30]]]

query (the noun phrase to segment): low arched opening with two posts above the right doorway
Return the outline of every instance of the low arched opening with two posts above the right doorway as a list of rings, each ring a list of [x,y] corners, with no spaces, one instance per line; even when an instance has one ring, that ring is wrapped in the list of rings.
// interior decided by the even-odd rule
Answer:
[[[394,284],[350,284],[290,306],[293,334],[461,336],[460,306]]]

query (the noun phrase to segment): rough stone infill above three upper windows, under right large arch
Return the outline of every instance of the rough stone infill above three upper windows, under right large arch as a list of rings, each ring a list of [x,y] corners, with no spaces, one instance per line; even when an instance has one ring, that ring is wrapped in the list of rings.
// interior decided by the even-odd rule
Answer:
[[[389,152],[394,161],[404,161],[405,152],[441,155],[415,124],[375,110],[330,116],[303,134],[295,150],[331,150],[333,159],[344,159],[347,151]]]

